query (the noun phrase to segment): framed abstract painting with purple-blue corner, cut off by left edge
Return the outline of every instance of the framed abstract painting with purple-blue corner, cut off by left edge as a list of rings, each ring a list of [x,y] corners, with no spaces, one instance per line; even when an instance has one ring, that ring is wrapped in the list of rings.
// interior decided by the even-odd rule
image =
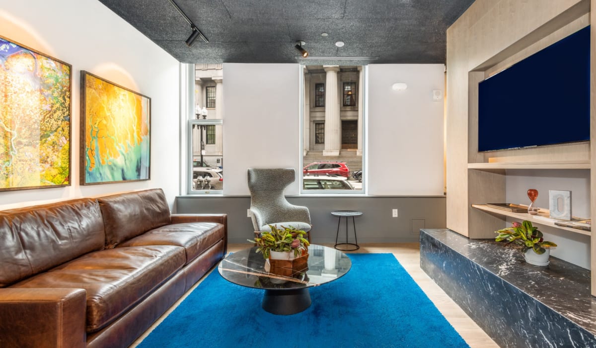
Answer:
[[[0,191],[70,186],[71,73],[0,36]]]

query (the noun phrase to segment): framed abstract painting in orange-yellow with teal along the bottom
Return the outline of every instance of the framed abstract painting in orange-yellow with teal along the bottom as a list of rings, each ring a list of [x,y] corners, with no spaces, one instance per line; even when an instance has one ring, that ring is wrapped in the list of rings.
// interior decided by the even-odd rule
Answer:
[[[80,72],[80,183],[150,179],[151,98]]]

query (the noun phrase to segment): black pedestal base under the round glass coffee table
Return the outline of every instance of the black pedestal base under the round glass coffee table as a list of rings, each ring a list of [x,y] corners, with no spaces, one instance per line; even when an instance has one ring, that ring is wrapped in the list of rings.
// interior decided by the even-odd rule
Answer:
[[[300,313],[311,306],[308,288],[293,290],[265,290],[263,309],[277,315]]]

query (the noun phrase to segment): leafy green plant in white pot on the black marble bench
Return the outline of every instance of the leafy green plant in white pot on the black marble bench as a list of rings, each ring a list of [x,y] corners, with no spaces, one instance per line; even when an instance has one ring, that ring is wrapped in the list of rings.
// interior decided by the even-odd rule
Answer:
[[[545,241],[542,238],[542,232],[537,227],[533,227],[530,221],[524,220],[523,223],[515,221],[511,227],[495,231],[499,235],[495,241],[507,241],[507,244],[514,243],[522,245],[522,252],[527,263],[536,266],[547,266],[550,261],[550,248],[557,244]]]

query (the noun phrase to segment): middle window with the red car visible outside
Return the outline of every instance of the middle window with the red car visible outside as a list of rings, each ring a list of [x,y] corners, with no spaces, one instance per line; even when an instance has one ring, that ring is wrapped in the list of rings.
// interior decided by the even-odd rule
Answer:
[[[366,94],[368,67],[339,66],[337,70],[327,72],[321,66],[302,66],[300,70],[300,193],[366,193],[367,181],[362,182],[362,178],[367,178],[366,173],[362,175],[366,100],[358,97]],[[331,93],[325,90],[331,85],[337,86],[334,105],[325,100],[326,93]]]

